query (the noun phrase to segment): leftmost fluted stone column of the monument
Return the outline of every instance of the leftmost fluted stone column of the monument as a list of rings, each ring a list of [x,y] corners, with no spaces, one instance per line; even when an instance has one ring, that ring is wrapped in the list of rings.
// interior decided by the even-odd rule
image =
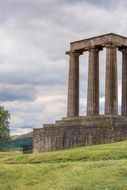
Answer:
[[[69,52],[67,116],[79,115],[79,53]]]

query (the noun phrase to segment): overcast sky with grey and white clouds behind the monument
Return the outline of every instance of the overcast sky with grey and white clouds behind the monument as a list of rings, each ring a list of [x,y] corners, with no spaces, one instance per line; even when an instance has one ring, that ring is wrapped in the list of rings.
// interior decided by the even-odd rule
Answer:
[[[127,36],[126,0],[0,0],[0,104],[11,134],[66,116],[70,41],[114,32]],[[87,53],[80,58],[80,114],[86,112]],[[121,55],[118,54],[119,107]],[[100,112],[105,50],[100,53]]]

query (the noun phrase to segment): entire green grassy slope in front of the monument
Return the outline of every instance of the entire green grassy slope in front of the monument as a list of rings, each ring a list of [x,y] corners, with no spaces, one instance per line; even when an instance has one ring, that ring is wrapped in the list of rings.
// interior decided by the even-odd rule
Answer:
[[[0,190],[127,190],[127,141],[0,153]]]

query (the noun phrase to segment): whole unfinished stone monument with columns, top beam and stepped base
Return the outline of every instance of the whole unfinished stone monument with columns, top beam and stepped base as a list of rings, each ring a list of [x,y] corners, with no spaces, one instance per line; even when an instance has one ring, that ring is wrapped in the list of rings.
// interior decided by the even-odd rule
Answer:
[[[105,113],[99,115],[99,52],[106,49]],[[79,56],[89,52],[87,115],[79,116]],[[117,51],[122,53],[122,100],[118,115]],[[33,131],[33,151],[127,139],[127,38],[104,34],[70,43],[67,117]]]

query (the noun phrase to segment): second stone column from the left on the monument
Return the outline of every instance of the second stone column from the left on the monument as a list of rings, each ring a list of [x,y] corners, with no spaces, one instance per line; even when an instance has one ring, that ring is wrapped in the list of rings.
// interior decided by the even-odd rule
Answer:
[[[99,49],[89,50],[87,115],[99,114]]]

